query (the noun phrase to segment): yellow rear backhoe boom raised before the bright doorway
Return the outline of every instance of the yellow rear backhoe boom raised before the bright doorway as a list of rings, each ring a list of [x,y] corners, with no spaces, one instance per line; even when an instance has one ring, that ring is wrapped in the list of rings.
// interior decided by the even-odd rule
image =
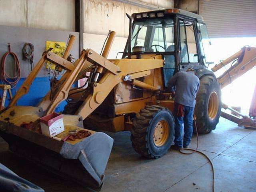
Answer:
[[[236,78],[242,76],[248,70],[256,66],[256,48],[244,46],[239,52],[215,65],[212,68],[212,71],[216,72],[234,60],[237,60],[236,63],[218,77],[220,88],[224,88]]]

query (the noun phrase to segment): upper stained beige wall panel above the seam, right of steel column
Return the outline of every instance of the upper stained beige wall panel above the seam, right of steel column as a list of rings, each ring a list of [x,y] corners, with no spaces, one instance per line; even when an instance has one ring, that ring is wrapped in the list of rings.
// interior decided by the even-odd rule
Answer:
[[[116,36],[126,37],[129,20],[125,13],[144,11],[148,9],[113,0],[84,0],[84,32],[106,35],[114,30]]]

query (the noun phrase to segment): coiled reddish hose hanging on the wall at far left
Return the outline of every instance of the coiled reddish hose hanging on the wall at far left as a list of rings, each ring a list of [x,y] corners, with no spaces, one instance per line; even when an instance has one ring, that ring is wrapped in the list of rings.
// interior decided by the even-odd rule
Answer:
[[[6,57],[8,55],[11,55],[14,58],[14,76],[13,77],[10,77],[5,71],[5,62],[6,62]],[[2,57],[2,62],[0,64],[0,68],[1,68],[1,74],[0,74],[1,77],[0,78],[1,78],[2,82],[6,83],[6,84],[10,84],[10,86],[12,88],[14,88],[21,77],[20,62],[19,62],[17,55],[11,51],[10,44],[8,44],[8,52],[6,52],[4,54],[4,56]],[[8,79],[11,79],[11,80],[8,80]]]

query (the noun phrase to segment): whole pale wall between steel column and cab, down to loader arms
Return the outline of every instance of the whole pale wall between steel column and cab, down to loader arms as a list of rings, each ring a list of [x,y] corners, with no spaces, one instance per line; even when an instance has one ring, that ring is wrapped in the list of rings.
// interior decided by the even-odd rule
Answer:
[[[173,8],[173,0],[140,0],[162,8]],[[134,6],[115,0],[84,0],[84,48],[92,48],[100,53],[109,30],[116,32],[109,59],[115,59],[123,52],[129,33],[129,20],[126,13],[150,11],[148,8]],[[122,54],[118,54],[120,58]]]

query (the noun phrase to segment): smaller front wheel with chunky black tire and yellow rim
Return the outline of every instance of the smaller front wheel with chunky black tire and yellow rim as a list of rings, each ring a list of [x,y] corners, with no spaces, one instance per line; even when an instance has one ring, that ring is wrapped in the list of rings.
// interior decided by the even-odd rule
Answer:
[[[132,146],[147,158],[158,158],[166,154],[174,136],[172,112],[162,106],[146,106],[133,120]]]

